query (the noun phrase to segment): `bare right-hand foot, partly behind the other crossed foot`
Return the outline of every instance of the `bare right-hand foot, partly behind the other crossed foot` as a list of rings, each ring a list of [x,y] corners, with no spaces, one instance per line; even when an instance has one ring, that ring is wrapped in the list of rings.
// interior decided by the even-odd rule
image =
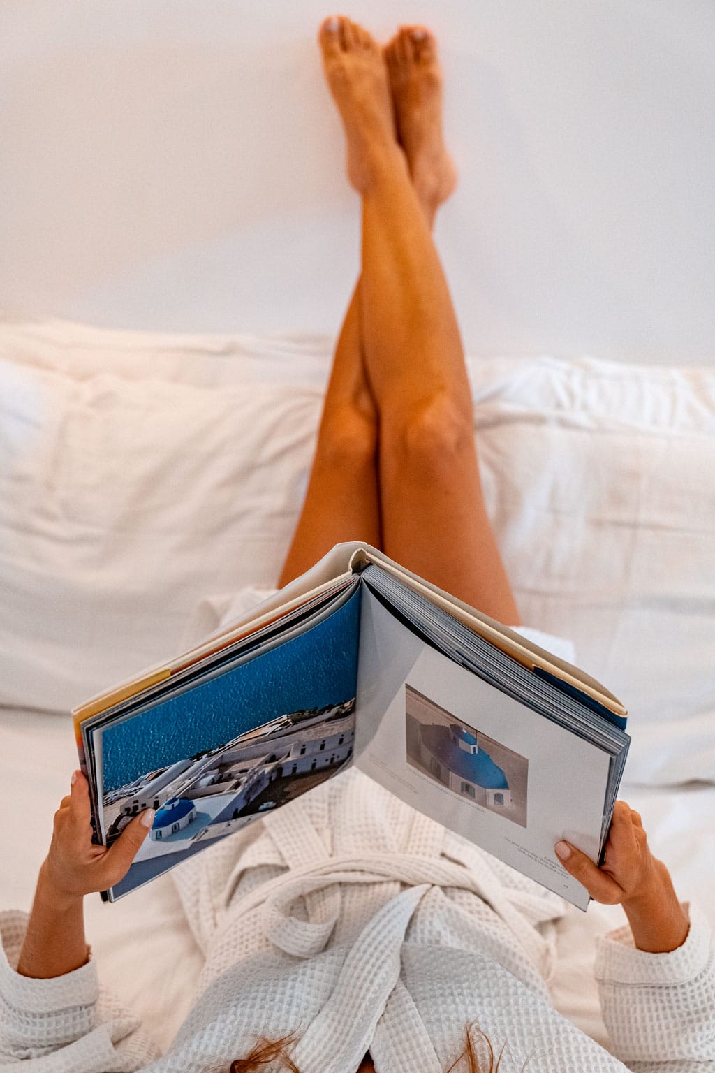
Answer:
[[[442,68],[434,35],[403,26],[385,46],[398,136],[413,183],[431,218],[457,186],[442,133]]]

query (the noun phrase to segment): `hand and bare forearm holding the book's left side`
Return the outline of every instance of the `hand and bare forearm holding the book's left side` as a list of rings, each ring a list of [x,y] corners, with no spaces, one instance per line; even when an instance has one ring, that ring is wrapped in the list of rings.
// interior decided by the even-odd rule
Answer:
[[[55,813],[53,841],[38,877],[17,964],[23,976],[62,976],[87,962],[84,896],[123,879],[153,819],[152,809],[143,812],[107,850],[92,844],[90,814],[87,780],[75,771],[70,794]]]

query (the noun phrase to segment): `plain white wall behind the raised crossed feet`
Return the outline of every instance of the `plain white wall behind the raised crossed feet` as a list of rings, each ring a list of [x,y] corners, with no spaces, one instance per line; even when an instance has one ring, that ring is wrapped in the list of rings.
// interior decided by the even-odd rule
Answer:
[[[0,307],[334,332],[358,202],[325,0],[2,0]],[[440,35],[472,352],[715,361],[711,0],[353,0]]]

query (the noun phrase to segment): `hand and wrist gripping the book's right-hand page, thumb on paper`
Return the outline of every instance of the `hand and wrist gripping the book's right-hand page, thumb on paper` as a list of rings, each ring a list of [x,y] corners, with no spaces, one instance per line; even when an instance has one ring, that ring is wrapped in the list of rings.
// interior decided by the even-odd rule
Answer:
[[[689,922],[670,873],[651,853],[641,818],[625,802],[613,808],[600,868],[570,842],[556,842],[554,850],[594,901],[623,906],[639,950],[667,953],[685,942]]]

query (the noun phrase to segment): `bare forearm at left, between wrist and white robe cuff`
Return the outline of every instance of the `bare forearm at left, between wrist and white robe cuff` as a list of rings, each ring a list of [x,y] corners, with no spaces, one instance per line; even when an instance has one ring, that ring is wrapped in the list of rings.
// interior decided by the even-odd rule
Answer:
[[[83,898],[58,895],[47,881],[43,865],[17,972],[47,980],[78,969],[88,957]]]

